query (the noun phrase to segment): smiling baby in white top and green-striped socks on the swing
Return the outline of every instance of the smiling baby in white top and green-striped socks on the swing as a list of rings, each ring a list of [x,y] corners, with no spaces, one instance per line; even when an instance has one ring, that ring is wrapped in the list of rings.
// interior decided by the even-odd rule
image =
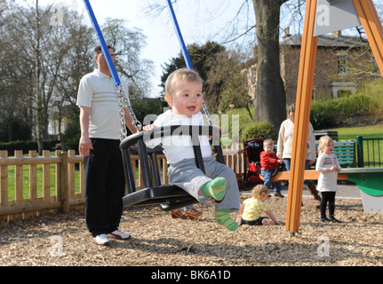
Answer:
[[[181,68],[174,71],[165,82],[165,99],[172,108],[160,114],[153,124],[143,130],[168,125],[203,125],[203,80],[192,70]],[[235,173],[226,165],[216,161],[211,155],[207,136],[200,137],[203,165],[206,173],[195,165],[195,154],[191,138],[188,136],[172,141],[158,141],[154,138],[146,142],[148,147],[163,144],[164,154],[169,163],[168,177],[172,185],[177,185],[205,202],[215,200],[215,218],[219,225],[235,231],[238,224],[229,213],[239,209],[239,191]]]

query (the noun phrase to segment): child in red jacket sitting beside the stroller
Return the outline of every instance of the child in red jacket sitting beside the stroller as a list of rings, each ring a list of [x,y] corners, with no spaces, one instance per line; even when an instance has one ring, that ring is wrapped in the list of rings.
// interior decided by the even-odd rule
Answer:
[[[279,159],[274,152],[274,141],[272,139],[266,139],[263,141],[263,150],[260,152],[260,166],[262,169],[260,173],[265,178],[263,185],[267,188],[271,186],[271,176],[275,172],[279,163],[283,163],[282,159]],[[284,197],[281,193],[281,182],[274,183],[274,196]]]

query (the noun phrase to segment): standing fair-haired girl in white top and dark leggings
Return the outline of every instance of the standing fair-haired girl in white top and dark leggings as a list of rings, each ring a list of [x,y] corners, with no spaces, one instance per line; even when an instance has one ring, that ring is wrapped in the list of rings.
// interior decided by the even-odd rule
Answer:
[[[321,201],[321,221],[322,222],[337,222],[334,217],[335,211],[335,193],[338,190],[337,178],[341,170],[338,158],[335,154],[331,154],[334,150],[334,142],[329,136],[323,136],[319,139],[318,159],[316,161],[315,170],[320,172],[318,185],[316,188],[322,194]],[[327,202],[329,203],[329,216],[326,217]]]

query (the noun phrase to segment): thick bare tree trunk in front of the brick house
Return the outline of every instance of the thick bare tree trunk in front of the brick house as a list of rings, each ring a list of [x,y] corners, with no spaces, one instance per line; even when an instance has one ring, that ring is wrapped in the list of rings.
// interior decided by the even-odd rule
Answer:
[[[279,16],[283,2],[253,0],[258,40],[255,121],[272,124],[275,135],[286,118],[286,95],[279,62]]]

